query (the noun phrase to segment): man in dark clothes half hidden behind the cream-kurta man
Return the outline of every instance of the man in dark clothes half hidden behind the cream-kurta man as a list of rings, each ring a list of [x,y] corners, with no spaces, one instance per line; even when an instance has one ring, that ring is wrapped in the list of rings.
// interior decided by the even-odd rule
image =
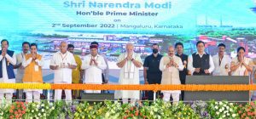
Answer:
[[[180,82],[182,84],[185,84],[186,82],[186,75],[188,73],[188,55],[186,54],[183,54],[183,43],[182,42],[177,42],[175,44],[175,48],[176,48],[176,56],[180,57],[180,59],[182,59],[183,61],[183,65],[184,65],[184,69],[183,71],[179,71],[179,79],[180,79]],[[181,92],[181,100],[184,99],[184,91]]]

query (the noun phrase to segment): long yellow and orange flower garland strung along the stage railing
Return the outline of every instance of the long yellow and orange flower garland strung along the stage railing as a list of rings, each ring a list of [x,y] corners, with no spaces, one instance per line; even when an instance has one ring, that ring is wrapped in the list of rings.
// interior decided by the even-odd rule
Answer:
[[[256,90],[252,84],[187,84],[187,85],[113,85],[113,84],[50,84],[0,83],[0,88],[13,89],[73,89],[73,90],[186,90],[186,91],[248,91]]]

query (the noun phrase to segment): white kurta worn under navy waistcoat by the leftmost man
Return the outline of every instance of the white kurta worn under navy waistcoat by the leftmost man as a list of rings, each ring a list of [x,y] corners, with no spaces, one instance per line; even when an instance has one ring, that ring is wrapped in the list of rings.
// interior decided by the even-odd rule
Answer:
[[[5,59],[9,60],[9,63],[12,65],[16,65],[16,57],[15,54],[13,54],[12,57],[9,56],[9,54],[5,55],[5,58],[0,54],[0,60],[2,60],[2,69],[3,69],[3,77],[0,78],[0,82],[5,82],[5,83],[15,83],[15,78],[9,79],[8,74],[6,71],[6,61]],[[5,93],[15,93],[15,89],[0,89],[1,94]]]

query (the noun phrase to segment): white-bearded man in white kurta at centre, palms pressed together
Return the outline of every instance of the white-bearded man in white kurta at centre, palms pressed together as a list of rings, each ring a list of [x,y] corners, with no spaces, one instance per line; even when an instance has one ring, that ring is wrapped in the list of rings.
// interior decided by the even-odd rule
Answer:
[[[132,43],[126,44],[126,52],[119,55],[117,65],[120,70],[119,84],[139,84],[139,68],[143,65],[140,54],[134,53]],[[140,99],[140,91],[115,91],[115,99],[123,99],[124,103],[131,99],[131,102]]]

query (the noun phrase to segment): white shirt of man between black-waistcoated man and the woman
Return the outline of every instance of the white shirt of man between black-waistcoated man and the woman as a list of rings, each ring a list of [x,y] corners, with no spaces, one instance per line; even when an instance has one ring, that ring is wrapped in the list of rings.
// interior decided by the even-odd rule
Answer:
[[[229,55],[224,54],[223,59],[220,61],[220,64],[218,54],[212,56],[212,60],[215,67],[214,70],[212,71],[213,76],[229,76],[231,63]]]

